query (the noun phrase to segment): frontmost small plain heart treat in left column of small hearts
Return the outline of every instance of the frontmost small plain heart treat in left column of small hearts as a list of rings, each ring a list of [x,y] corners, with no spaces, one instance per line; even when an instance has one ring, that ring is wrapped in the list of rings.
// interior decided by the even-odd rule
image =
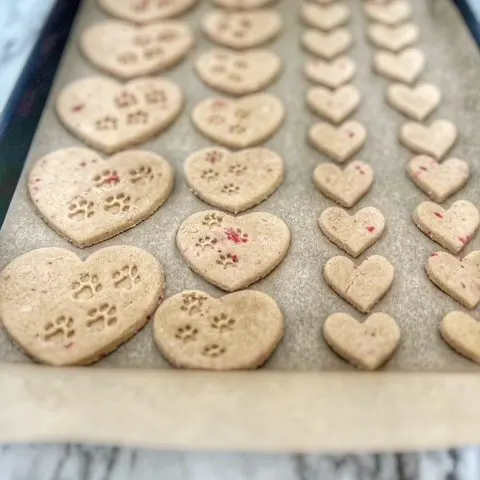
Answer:
[[[360,323],[346,313],[330,315],[323,336],[332,350],[355,367],[376,370],[395,352],[400,327],[386,313],[373,313]]]

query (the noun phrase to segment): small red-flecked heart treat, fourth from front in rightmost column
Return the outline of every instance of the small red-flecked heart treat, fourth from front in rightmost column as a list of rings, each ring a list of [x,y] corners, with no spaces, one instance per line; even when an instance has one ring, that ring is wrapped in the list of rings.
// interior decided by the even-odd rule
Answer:
[[[468,180],[468,163],[458,158],[449,158],[438,163],[427,155],[413,157],[407,165],[407,172],[415,185],[438,203],[458,192]]]

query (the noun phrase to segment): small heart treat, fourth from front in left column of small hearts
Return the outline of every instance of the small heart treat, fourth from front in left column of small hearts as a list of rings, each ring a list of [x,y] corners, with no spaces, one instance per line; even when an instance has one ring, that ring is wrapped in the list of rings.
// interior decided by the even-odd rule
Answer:
[[[317,189],[342,207],[353,207],[372,186],[372,167],[355,160],[343,170],[333,163],[322,163],[313,173]]]

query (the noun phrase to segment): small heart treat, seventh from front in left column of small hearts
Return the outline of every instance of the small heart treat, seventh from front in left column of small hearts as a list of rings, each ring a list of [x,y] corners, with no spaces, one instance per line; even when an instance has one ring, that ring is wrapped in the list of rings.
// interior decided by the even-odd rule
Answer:
[[[348,83],[357,71],[355,62],[348,57],[338,57],[331,62],[308,60],[305,75],[309,80],[329,88],[338,88]]]

